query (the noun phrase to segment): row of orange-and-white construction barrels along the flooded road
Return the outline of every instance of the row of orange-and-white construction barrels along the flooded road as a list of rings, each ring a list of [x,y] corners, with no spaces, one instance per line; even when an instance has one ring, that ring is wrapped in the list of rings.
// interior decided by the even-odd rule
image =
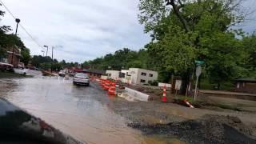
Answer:
[[[98,83],[100,86],[102,86],[103,90],[107,90],[109,95],[116,95],[115,82],[107,79],[100,79]]]

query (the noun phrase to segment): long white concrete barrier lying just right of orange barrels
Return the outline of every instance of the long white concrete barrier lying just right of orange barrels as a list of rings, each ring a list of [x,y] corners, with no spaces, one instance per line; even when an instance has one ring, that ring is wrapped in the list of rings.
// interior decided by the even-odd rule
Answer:
[[[148,94],[143,94],[142,92],[139,92],[137,90],[133,90],[133,89],[130,89],[127,87],[126,87],[125,91],[126,91],[125,93],[129,97],[129,100],[134,99],[134,100],[144,101],[144,102],[149,101],[150,95],[148,95]]]

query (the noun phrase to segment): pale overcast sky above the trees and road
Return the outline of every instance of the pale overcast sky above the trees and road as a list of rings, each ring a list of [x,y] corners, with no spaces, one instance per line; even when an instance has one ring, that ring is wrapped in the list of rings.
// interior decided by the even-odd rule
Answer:
[[[256,7],[247,0],[245,7]],[[67,62],[84,62],[128,47],[138,50],[150,42],[138,23],[138,0],[2,0],[40,45],[56,48],[54,58]],[[3,6],[1,7],[3,10]],[[256,8],[255,8],[256,9]],[[246,32],[256,29],[256,14],[242,25]],[[254,20],[253,20],[254,19]],[[10,14],[2,24],[15,29]],[[18,35],[31,54],[42,54],[24,30]],[[48,55],[51,54],[50,52]]]

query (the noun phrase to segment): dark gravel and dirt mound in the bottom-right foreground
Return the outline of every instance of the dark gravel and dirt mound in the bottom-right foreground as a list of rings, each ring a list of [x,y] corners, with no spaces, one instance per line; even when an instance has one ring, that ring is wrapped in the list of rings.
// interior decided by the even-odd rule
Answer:
[[[206,115],[198,120],[148,126],[130,123],[129,126],[142,130],[143,134],[178,137],[187,143],[256,143],[252,128],[230,116]]]

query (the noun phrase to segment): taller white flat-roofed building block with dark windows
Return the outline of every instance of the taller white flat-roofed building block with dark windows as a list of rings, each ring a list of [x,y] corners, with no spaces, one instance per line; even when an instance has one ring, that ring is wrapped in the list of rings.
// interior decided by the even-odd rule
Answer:
[[[130,83],[134,85],[149,84],[158,80],[158,72],[138,68],[130,68]]]

